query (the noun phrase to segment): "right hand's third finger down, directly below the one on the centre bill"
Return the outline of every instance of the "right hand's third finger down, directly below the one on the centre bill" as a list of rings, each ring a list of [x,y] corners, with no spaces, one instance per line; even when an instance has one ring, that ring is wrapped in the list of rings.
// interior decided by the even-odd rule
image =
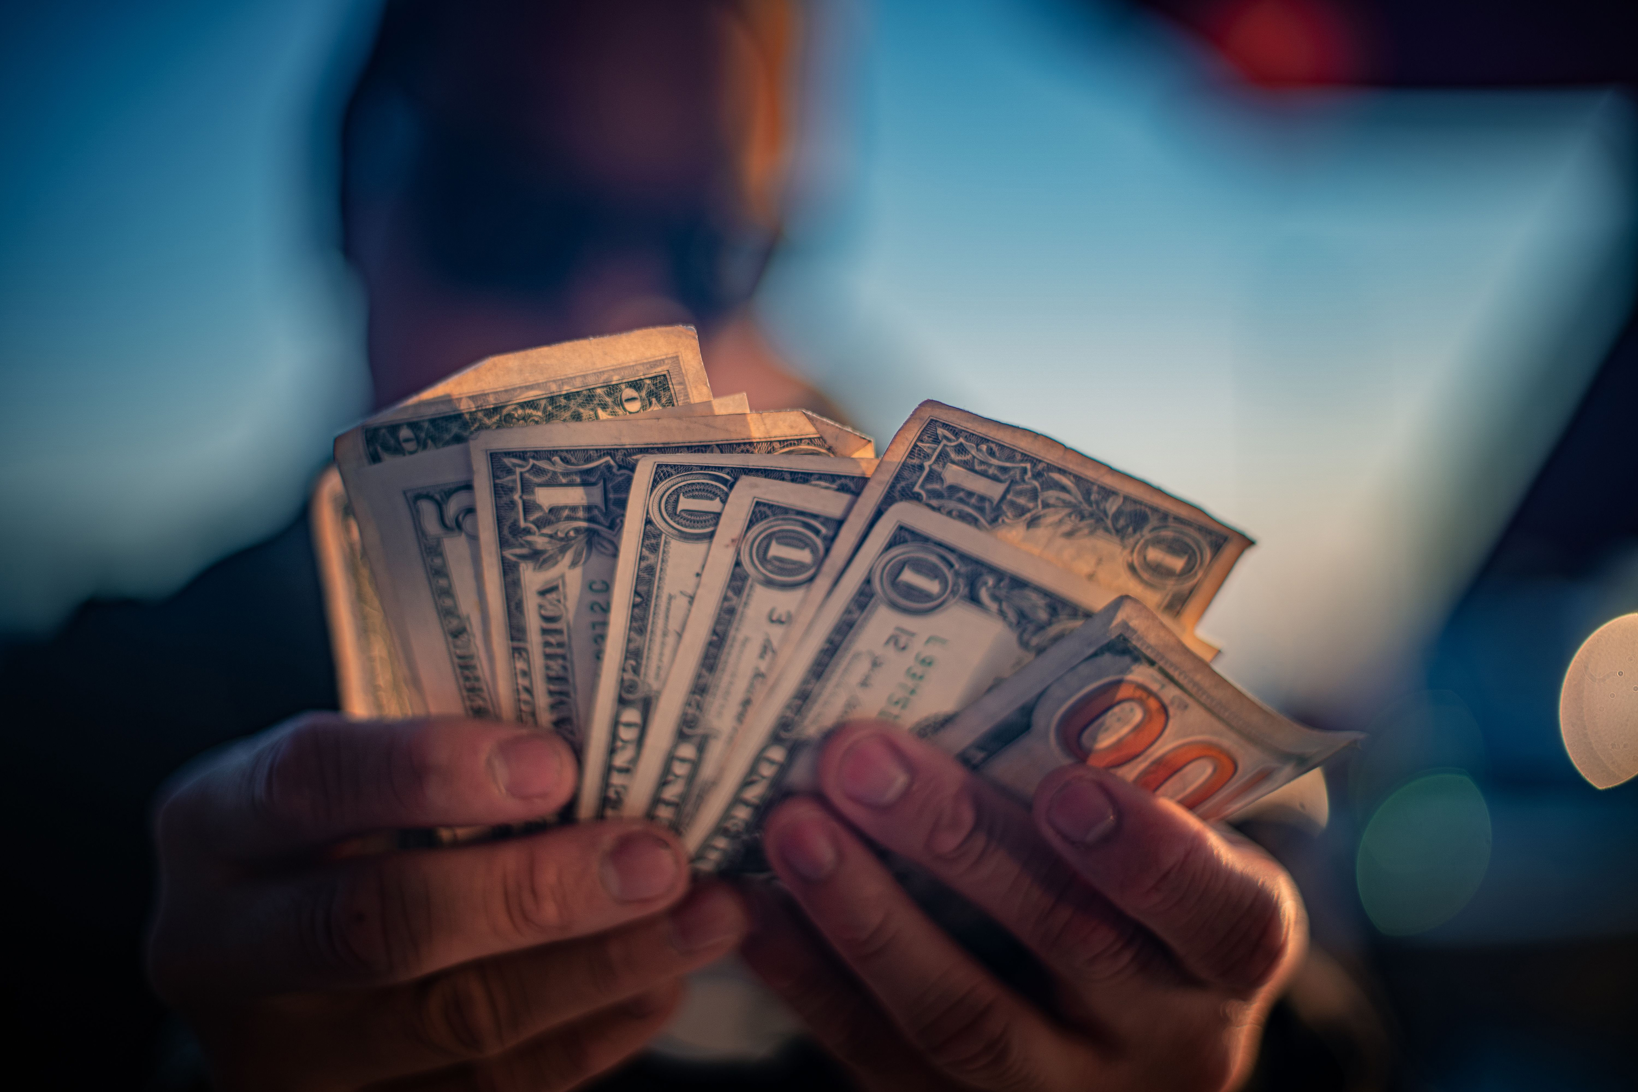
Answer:
[[[786,801],[763,843],[814,927],[934,1067],[993,1089],[1045,1087],[1061,1067],[1071,1048],[929,922],[821,802]]]

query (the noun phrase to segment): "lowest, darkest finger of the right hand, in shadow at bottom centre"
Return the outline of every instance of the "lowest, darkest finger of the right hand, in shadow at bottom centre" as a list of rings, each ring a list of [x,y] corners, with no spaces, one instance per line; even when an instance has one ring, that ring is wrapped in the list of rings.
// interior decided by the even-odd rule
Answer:
[[[739,954],[867,1089],[948,1084],[911,1049],[881,1005],[821,946],[785,899],[763,889],[752,894],[752,904],[757,927]]]

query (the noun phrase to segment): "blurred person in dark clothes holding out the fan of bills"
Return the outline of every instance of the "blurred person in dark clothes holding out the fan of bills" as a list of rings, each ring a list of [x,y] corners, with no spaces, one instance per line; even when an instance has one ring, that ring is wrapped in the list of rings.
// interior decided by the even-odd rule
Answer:
[[[829,409],[747,305],[778,236],[798,16],[388,3],[342,139],[377,404],[491,352],[693,321],[717,390]],[[54,828],[21,838],[18,871],[23,977],[57,1041],[152,1033],[106,964],[134,971],[144,801],[205,751],[154,812],[147,969],[192,1028],[170,1087],[572,1087],[742,946],[835,1061],[647,1058],[614,1085],[1224,1089],[1305,946],[1291,879],[1250,843],[1086,768],[1022,809],[881,724],[837,732],[822,794],[770,817],[781,889],[691,884],[676,838],[636,822],[373,851],[377,832],[550,812],[575,758],[519,725],[301,714],[336,707],[305,519],[165,602],[87,606],[0,670],[31,725],[15,768],[49,771],[8,805],[11,830]],[[988,950],[878,848],[978,907]]]

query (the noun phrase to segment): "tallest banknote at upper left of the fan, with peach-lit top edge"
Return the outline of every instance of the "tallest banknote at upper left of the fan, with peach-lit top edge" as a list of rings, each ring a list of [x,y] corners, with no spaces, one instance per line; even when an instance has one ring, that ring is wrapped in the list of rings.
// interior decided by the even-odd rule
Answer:
[[[709,398],[693,331],[662,327],[490,357],[337,437],[336,462],[418,712],[500,711],[467,440],[544,421],[713,413]]]

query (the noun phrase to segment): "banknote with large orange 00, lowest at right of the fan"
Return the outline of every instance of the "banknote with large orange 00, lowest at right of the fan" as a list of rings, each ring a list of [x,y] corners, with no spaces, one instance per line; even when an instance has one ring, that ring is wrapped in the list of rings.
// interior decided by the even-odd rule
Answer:
[[[1086,763],[1209,822],[1361,738],[1263,706],[1130,596],[924,735],[1024,802],[1053,769]]]

